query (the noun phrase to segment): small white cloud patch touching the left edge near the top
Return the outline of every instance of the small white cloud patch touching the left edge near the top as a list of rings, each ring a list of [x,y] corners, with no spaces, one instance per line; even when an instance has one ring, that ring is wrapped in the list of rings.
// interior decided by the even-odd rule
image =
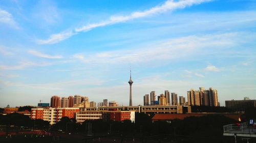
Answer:
[[[17,27],[16,22],[12,17],[12,14],[2,9],[0,9],[0,22]]]

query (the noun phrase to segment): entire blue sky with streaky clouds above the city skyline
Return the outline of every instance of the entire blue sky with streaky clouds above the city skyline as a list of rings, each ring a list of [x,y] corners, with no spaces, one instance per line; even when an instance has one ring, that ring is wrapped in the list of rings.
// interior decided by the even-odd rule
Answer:
[[[256,99],[256,1],[1,1],[0,107],[129,104],[164,90]]]

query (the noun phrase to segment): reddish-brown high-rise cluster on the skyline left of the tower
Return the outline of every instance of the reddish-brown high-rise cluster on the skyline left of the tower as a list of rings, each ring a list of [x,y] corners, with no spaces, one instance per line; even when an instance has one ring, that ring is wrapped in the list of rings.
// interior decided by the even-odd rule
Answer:
[[[38,103],[38,106],[46,107],[47,103]],[[49,106],[49,103],[48,103]],[[98,107],[102,106],[118,106],[116,101],[110,101],[108,103],[108,99],[103,99],[103,102],[99,102],[97,104]],[[69,96],[69,97],[59,97],[59,96],[52,96],[51,97],[51,104],[50,107],[52,108],[71,108],[71,107],[96,107],[96,102],[91,101],[89,102],[89,98],[86,96]]]

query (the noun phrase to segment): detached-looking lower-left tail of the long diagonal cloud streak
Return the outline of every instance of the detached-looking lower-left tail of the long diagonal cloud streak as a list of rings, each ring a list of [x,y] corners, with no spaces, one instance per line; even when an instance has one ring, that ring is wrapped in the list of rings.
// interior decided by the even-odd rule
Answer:
[[[44,44],[54,44],[54,43],[58,43],[62,40],[68,39],[71,36],[75,35],[76,33],[73,33],[72,31],[69,32],[62,32],[62,33],[58,33],[58,34],[53,34],[50,36],[49,39],[46,40],[37,40],[36,43],[40,44],[40,45],[44,45]]]

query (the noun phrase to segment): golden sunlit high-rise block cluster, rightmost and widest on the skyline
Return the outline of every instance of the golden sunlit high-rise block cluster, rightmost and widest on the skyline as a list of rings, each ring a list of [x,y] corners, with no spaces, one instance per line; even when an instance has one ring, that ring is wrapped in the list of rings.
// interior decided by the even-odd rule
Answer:
[[[187,91],[187,101],[189,106],[220,106],[218,102],[217,90],[209,88],[199,88],[200,90],[191,89]]]

